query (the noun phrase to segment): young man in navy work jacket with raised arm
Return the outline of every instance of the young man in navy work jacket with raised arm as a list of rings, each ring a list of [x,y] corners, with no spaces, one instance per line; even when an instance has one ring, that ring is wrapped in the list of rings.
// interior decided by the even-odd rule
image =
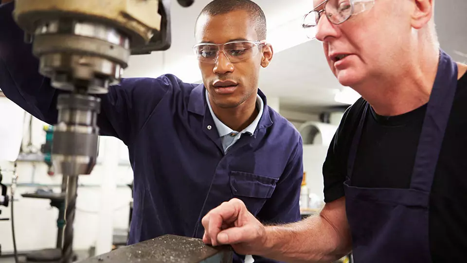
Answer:
[[[37,73],[13,8],[0,7],[0,87],[55,123],[60,91]],[[258,90],[259,71],[273,55],[265,39],[266,18],[255,3],[212,1],[196,23],[204,85],[173,75],[130,78],[101,96],[98,125],[125,142],[134,171],[130,244],[168,233],[201,238],[201,218],[232,197],[263,222],[300,219],[302,140]]]

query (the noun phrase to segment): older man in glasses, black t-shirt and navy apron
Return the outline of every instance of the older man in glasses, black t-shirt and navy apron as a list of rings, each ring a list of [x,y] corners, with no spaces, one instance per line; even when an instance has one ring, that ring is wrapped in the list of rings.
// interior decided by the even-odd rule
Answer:
[[[233,199],[204,241],[287,262],[454,262],[467,249],[467,66],[439,49],[433,0],[325,0],[305,17],[339,82],[362,98],[323,166],[319,216],[261,225]]]

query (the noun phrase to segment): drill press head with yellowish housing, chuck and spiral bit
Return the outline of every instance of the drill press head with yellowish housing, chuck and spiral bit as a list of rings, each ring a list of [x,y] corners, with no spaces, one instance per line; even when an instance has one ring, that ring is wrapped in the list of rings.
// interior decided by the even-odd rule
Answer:
[[[5,0],[3,0],[5,1]],[[194,0],[178,0],[190,6]],[[77,176],[97,158],[98,94],[108,92],[130,55],[171,45],[170,0],[16,0],[13,17],[32,42],[39,72],[60,89],[52,159],[68,178],[62,262],[72,259]]]

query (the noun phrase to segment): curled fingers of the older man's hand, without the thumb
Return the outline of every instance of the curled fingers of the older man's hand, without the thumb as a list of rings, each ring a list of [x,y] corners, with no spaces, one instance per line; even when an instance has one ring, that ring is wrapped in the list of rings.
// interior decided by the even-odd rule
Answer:
[[[217,235],[222,229],[230,227],[237,221],[240,211],[246,210],[239,199],[224,202],[203,217],[201,223],[205,229],[203,241],[206,244],[219,245]]]

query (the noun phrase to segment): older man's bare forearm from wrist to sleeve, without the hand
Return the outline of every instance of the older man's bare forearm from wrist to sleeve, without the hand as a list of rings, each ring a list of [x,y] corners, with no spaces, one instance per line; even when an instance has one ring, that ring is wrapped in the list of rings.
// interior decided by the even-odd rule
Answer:
[[[345,198],[324,206],[320,215],[285,226],[266,227],[265,257],[279,261],[329,263],[351,251]]]

